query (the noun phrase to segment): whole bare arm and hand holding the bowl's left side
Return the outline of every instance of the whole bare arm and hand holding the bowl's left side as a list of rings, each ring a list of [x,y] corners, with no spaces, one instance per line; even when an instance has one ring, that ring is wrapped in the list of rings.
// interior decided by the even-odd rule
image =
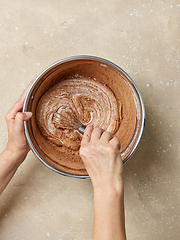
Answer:
[[[24,121],[29,120],[32,114],[22,113],[25,95],[26,92],[6,113],[8,144],[7,148],[0,153],[0,194],[30,150],[24,134]]]

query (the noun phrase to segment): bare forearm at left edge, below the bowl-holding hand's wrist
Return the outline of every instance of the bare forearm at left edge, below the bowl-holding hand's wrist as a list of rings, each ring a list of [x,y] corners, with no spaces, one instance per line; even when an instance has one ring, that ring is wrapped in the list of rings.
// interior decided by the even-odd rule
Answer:
[[[0,153],[0,194],[14,176],[27,153],[12,153],[5,149]]]

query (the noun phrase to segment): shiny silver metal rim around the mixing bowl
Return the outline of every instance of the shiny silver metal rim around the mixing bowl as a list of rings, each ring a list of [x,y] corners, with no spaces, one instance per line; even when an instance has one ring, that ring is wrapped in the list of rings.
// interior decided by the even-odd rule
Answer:
[[[139,91],[139,89],[137,88],[135,82],[132,80],[132,78],[122,69],[120,68],[118,65],[116,65],[115,63],[109,61],[109,60],[106,60],[104,58],[101,58],[101,57],[97,57],[97,56],[91,56],[91,55],[77,55],[77,56],[71,56],[71,57],[67,57],[67,58],[63,58],[53,64],[51,64],[49,67],[47,67],[46,69],[44,69],[37,77],[36,79],[33,81],[33,83],[30,85],[29,89],[28,89],[28,92],[26,94],[26,97],[25,97],[25,101],[24,101],[24,105],[23,105],[23,112],[26,111],[26,107],[27,107],[27,103],[28,103],[28,100],[29,100],[29,96],[36,84],[36,82],[39,80],[39,78],[41,78],[41,76],[43,76],[46,72],[48,72],[51,68],[59,65],[59,64],[62,64],[62,63],[65,63],[65,62],[68,62],[68,61],[72,61],[72,60],[96,60],[96,61],[99,61],[99,62],[102,62],[104,64],[107,64],[109,66],[112,66],[113,68],[117,69],[118,71],[120,71],[121,73],[123,73],[123,75],[130,81],[130,83],[132,84],[133,88],[135,89],[136,91],[136,94],[139,98],[139,101],[140,101],[140,106],[141,106],[141,113],[142,113],[142,121],[141,121],[141,125],[140,125],[140,132],[139,132],[139,135],[137,137],[137,140],[136,140],[136,143],[133,147],[133,149],[131,150],[130,154],[125,158],[125,160],[123,161],[123,164],[125,164],[129,159],[130,157],[134,154],[135,150],[137,149],[141,139],[142,139],[142,135],[143,135],[143,131],[144,131],[144,127],[145,127],[145,106],[144,106],[144,102],[143,102],[143,99],[142,99],[142,96],[141,96],[141,93]],[[75,174],[69,174],[69,173],[65,173],[63,171],[60,171],[54,167],[52,167],[50,164],[48,164],[40,155],[39,153],[36,151],[36,149],[34,148],[32,142],[31,142],[31,139],[30,139],[30,136],[29,136],[29,133],[28,133],[28,128],[27,128],[27,123],[26,121],[24,122],[24,128],[25,128],[25,136],[27,138],[27,141],[31,147],[31,150],[33,151],[33,153],[39,158],[39,160],[48,168],[50,168],[51,170],[61,174],[61,175],[64,175],[64,176],[68,176],[68,177],[73,177],[73,178],[81,178],[81,179],[86,179],[86,178],[90,178],[89,175],[75,175]]]

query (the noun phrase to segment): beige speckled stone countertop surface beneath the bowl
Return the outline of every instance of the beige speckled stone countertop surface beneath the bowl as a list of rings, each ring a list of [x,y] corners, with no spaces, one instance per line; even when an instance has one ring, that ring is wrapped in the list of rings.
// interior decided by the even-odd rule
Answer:
[[[0,150],[5,113],[52,63],[93,55],[124,69],[139,88],[146,127],[124,165],[128,240],[180,236],[180,2],[0,2]],[[91,181],[61,176],[29,153],[0,197],[0,239],[87,239]]]

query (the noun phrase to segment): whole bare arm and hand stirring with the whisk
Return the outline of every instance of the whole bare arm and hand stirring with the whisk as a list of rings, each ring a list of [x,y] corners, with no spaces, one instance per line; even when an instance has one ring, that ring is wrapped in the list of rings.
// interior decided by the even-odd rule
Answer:
[[[87,126],[80,155],[94,188],[93,240],[125,240],[123,164],[120,142],[101,128]]]

